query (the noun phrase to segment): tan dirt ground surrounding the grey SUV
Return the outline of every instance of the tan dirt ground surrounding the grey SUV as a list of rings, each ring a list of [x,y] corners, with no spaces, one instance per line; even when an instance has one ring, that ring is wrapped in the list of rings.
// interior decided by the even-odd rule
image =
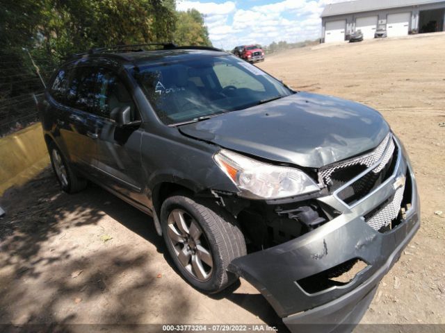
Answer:
[[[436,34],[323,44],[259,65],[294,89],[380,110],[410,153],[421,229],[362,323],[445,323],[444,54],[445,35]],[[152,220],[99,187],[60,193],[46,169],[8,190],[0,205],[7,212],[0,219],[0,324],[58,323],[83,332],[70,324],[280,323],[245,281],[219,296],[195,291],[172,268]]]

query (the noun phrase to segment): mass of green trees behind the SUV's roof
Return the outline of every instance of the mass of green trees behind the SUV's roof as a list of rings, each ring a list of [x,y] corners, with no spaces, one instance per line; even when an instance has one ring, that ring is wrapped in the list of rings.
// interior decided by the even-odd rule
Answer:
[[[0,100],[42,89],[24,48],[48,77],[97,46],[211,45],[200,12],[177,12],[175,0],[0,0],[0,8]]]

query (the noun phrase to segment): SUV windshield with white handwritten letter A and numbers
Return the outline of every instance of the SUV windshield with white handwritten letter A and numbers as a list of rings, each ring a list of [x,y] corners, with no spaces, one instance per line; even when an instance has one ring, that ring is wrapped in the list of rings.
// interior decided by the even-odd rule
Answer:
[[[133,76],[168,125],[250,108],[293,92],[235,56],[140,66]]]

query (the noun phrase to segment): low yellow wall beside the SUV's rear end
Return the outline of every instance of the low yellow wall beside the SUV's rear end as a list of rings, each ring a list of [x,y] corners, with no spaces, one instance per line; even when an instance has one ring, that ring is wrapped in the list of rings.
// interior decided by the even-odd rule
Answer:
[[[35,123],[0,139],[0,196],[23,185],[49,164],[42,126]]]

